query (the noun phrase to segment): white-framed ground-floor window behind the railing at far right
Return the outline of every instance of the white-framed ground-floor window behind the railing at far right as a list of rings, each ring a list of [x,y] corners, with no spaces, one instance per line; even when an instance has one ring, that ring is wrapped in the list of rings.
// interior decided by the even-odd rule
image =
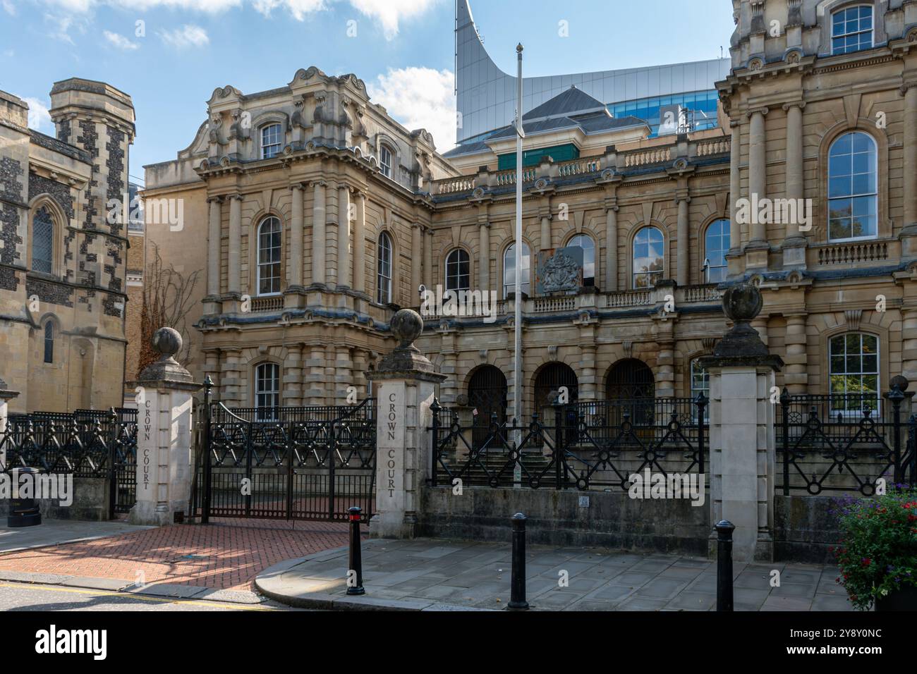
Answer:
[[[846,333],[832,337],[829,348],[831,411],[861,414],[877,410],[878,337]]]

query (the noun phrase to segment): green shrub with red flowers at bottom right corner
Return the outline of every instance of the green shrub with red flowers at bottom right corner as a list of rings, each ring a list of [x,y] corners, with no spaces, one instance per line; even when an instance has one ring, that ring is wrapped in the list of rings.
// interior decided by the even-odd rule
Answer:
[[[917,490],[899,485],[882,496],[846,497],[835,505],[838,582],[856,609],[868,611],[877,597],[917,586]]]

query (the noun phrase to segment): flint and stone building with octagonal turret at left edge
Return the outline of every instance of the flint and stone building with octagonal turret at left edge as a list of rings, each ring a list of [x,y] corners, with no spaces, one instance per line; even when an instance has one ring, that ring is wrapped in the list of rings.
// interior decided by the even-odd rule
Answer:
[[[0,92],[0,379],[11,412],[121,403],[127,232],[121,209],[133,142],[130,96],[55,83],[51,138]],[[114,210],[114,215],[110,211]]]

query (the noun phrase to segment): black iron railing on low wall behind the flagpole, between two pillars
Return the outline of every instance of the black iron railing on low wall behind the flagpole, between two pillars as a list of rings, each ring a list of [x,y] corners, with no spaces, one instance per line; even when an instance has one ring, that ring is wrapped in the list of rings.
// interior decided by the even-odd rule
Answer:
[[[702,474],[709,435],[703,395],[558,404],[523,424],[431,406],[431,483],[627,490],[630,477]],[[698,420],[702,420],[699,423]]]

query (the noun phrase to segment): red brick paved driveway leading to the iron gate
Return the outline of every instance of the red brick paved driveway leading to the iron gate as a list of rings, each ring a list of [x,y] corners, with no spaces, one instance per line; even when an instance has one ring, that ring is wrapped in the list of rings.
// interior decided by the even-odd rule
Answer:
[[[8,553],[0,569],[251,590],[263,569],[347,543],[346,523],[216,520]]]

